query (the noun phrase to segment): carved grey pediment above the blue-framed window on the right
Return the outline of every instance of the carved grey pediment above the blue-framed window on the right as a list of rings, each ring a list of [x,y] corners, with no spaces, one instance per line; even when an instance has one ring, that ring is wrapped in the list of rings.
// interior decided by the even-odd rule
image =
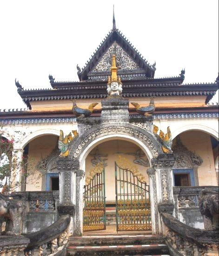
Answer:
[[[186,148],[179,135],[176,137],[176,145],[172,148],[176,158],[173,168],[193,168],[194,165],[200,166],[203,162],[200,156],[191,152]]]

